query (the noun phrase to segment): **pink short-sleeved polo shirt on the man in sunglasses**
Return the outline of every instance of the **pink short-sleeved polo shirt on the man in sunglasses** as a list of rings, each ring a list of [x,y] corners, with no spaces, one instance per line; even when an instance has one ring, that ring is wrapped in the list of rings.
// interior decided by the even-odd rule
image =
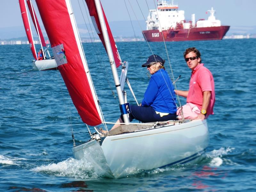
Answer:
[[[203,63],[200,63],[194,68],[191,74],[187,103],[193,103],[201,110],[204,91],[211,91],[209,105],[206,109],[206,117],[208,117],[213,114],[215,103],[214,80],[211,71],[204,67]]]

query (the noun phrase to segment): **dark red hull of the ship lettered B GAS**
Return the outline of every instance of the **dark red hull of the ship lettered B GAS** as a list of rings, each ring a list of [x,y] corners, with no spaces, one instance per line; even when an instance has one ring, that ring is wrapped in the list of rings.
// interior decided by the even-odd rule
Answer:
[[[164,40],[159,30],[145,30],[142,31],[142,33],[144,34],[145,40],[148,42],[221,40],[228,32],[229,27],[230,26],[163,30]]]

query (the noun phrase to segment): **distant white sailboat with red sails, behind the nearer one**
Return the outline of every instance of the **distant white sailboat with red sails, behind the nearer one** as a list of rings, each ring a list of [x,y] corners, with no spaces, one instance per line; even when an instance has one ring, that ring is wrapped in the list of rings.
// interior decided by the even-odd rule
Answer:
[[[34,7],[31,3],[31,1],[30,0],[19,0],[19,4],[20,4],[21,17],[23,20],[26,35],[28,37],[30,49],[33,54],[33,57],[35,58],[35,60],[32,63],[32,67],[34,68],[34,70],[39,70],[39,71],[48,70],[48,69],[57,69],[56,62],[55,62],[54,58],[51,57],[50,52],[48,50],[49,45],[46,46],[46,44],[45,44],[44,36],[41,31],[39,22],[36,17],[36,12],[34,10]],[[26,6],[26,4],[27,4],[27,6]],[[40,45],[41,45],[41,50],[39,51],[38,54],[36,53],[36,47],[35,47],[32,30],[31,30],[31,26],[30,26],[30,22],[29,22],[29,14],[28,14],[27,8],[29,10],[32,21],[36,28],[36,32],[39,37],[39,41],[40,41]],[[43,48],[43,47],[45,47],[45,48]],[[40,52],[41,52],[41,56],[40,56]],[[46,53],[48,54],[48,58],[46,57]]]

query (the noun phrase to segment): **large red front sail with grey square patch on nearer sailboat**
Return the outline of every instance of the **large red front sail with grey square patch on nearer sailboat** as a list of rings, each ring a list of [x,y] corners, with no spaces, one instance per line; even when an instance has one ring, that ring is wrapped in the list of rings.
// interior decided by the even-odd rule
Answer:
[[[102,117],[69,1],[36,0],[52,52],[82,121],[95,126]]]

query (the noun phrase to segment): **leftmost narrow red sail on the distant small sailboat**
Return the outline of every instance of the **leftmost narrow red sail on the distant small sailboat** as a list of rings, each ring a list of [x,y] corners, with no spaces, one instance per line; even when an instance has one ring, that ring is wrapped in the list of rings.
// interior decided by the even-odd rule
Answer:
[[[36,48],[35,48],[32,32],[31,32],[31,28],[28,20],[28,12],[26,9],[25,0],[19,0],[19,3],[20,3],[21,17],[22,17],[24,28],[28,37],[28,42],[30,44],[30,49],[32,51],[33,57],[37,60]]]

